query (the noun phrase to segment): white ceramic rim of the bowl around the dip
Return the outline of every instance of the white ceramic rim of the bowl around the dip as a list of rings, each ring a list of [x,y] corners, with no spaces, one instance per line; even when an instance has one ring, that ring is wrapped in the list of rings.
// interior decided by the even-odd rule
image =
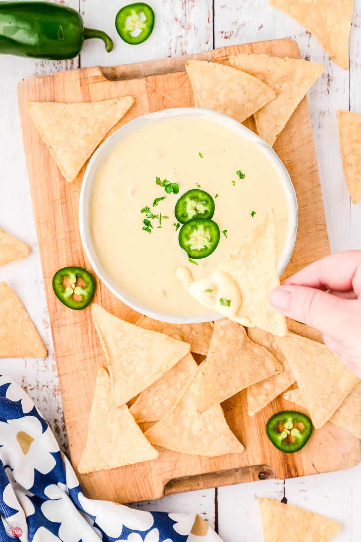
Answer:
[[[274,152],[272,147],[265,143],[265,141],[258,137],[258,135],[254,134],[251,130],[248,130],[248,128],[246,128],[242,124],[239,124],[239,122],[231,119],[230,117],[227,117],[226,115],[223,115],[221,113],[210,111],[209,109],[201,109],[196,107],[179,107],[174,109],[165,109],[164,111],[158,111],[156,113],[149,113],[148,115],[143,115],[143,117],[138,117],[137,119],[128,122],[128,124],[119,128],[119,130],[114,132],[114,134],[112,134],[106,141],[104,141],[104,143],[99,147],[99,149],[97,149],[97,151],[93,154],[93,157],[91,157],[86,172],[84,173],[79,201],[79,227],[81,240],[84,250],[86,251],[88,259],[91,263],[91,266],[93,267],[97,276],[99,276],[100,280],[117,298],[119,298],[129,307],[135,309],[135,311],[146,314],[150,318],[161,320],[163,322],[169,322],[172,324],[189,324],[194,322],[207,322],[211,320],[217,320],[222,317],[218,313],[213,313],[209,311],[198,317],[190,316],[189,318],[183,318],[165,313],[155,312],[150,310],[149,307],[143,306],[139,302],[135,302],[129,292],[124,291],[119,285],[117,285],[101,267],[101,264],[97,259],[97,255],[91,238],[89,226],[90,197],[93,189],[96,171],[99,165],[103,162],[103,159],[107,156],[109,151],[113,149],[113,147],[117,145],[119,141],[121,141],[121,139],[128,137],[129,134],[135,132],[136,130],[139,130],[139,128],[146,124],[150,124],[151,122],[157,122],[160,119],[165,119],[169,117],[196,117],[212,120],[213,122],[225,126],[229,130],[232,130],[235,133],[242,135],[242,137],[248,139],[249,141],[253,141],[256,145],[260,145],[262,149],[267,153],[268,158],[278,170],[280,177],[283,181],[289,208],[290,228],[288,230],[287,240],[283,253],[280,254],[278,260],[278,272],[280,275],[281,273],[283,273],[293,251],[298,225],[297,198],[290,176],[288,175],[285,166],[283,165],[277,154]]]

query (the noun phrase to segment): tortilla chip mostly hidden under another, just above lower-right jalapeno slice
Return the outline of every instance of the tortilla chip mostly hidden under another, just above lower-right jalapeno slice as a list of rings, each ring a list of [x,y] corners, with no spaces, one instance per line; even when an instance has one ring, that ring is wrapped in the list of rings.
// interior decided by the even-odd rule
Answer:
[[[296,403],[297,405],[308,409],[299,388],[287,391],[284,394],[284,398],[287,399],[287,401],[291,401],[292,403]],[[330,418],[330,422],[346,429],[357,438],[361,438],[361,380],[356,384],[355,388],[351,390],[345,401]]]

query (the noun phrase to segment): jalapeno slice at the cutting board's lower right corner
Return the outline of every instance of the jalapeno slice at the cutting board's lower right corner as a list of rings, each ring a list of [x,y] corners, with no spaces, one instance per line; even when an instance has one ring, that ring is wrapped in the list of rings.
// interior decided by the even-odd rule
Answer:
[[[301,412],[285,410],[268,420],[266,433],[276,448],[293,454],[301,450],[312,435],[312,422]]]

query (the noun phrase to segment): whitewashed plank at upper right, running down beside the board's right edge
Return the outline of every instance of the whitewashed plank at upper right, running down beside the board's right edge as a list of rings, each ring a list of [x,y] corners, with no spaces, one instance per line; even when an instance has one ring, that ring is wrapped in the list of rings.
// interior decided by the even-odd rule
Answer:
[[[267,0],[215,0],[215,47],[283,37],[297,41],[303,58],[325,65],[309,92],[309,106],[331,250],[346,250],[351,248],[350,198],[342,180],[336,110],[348,109],[349,72],[336,66],[316,38]]]

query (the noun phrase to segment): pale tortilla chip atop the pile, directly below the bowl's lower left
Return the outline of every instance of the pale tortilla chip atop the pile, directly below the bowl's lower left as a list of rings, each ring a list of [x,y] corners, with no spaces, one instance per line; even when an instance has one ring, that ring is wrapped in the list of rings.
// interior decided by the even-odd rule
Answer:
[[[187,343],[116,318],[100,305],[93,304],[91,313],[107,358],[111,403],[117,406],[148,388],[191,350]]]

